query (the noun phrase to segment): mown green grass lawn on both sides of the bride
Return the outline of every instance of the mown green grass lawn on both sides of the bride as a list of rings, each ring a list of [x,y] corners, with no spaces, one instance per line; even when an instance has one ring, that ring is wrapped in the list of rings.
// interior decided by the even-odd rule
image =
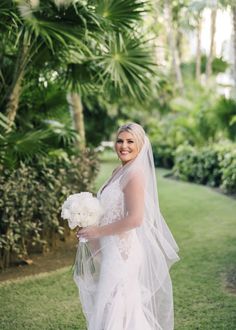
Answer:
[[[102,165],[97,187],[113,168]],[[236,289],[227,289],[227,278],[235,281],[236,201],[157,172],[162,213],[180,247],[181,261],[171,270],[175,329],[235,330]],[[84,330],[71,270],[3,282],[0,329]]]

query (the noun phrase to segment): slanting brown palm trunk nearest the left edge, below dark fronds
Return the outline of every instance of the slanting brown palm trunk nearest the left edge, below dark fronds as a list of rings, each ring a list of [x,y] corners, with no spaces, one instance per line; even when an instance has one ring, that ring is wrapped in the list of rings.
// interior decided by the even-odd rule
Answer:
[[[27,64],[28,52],[29,46],[27,44],[22,43],[16,60],[13,81],[6,105],[6,115],[9,119],[9,130],[11,129],[15,121],[15,117],[19,107],[20,95],[22,90],[22,80],[25,73],[25,66]]]

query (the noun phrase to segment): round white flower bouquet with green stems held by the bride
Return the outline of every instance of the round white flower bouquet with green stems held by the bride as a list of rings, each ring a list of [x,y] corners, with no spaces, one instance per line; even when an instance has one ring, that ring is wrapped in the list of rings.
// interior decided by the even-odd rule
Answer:
[[[101,204],[96,197],[89,192],[81,192],[70,195],[62,205],[61,217],[68,220],[71,229],[76,227],[88,227],[97,225],[103,213]],[[81,238],[81,243],[86,243],[87,239]],[[85,263],[90,271],[95,272],[93,257],[87,244],[82,244],[78,250],[78,260],[76,262],[76,272],[84,275]]]

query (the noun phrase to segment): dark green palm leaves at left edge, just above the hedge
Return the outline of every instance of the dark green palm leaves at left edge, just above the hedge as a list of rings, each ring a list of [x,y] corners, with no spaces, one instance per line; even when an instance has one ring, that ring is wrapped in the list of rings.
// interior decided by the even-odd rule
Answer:
[[[45,127],[35,130],[2,133],[0,137],[0,164],[9,170],[16,169],[21,162],[39,164],[47,158],[67,158],[73,154],[77,140],[76,132],[57,121],[45,122]]]

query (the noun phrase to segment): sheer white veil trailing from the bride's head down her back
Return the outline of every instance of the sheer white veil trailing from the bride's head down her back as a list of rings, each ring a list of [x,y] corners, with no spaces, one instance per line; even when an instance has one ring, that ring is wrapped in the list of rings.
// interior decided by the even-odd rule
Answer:
[[[107,185],[119,182],[120,190],[124,191],[130,180],[135,178],[141,178],[139,182],[144,189],[145,204],[142,224],[136,228],[137,238],[142,247],[142,262],[138,274],[142,309],[151,329],[171,330],[174,328],[174,322],[169,268],[179,260],[178,246],[160,212],[152,147],[146,135],[137,157],[115,171],[101,187],[98,198]],[[91,242],[94,263],[99,265],[102,246],[94,246],[94,242]],[[83,301],[90,302],[87,303],[85,311],[89,314],[95,299],[93,289],[95,290],[99,281],[99,271],[92,274],[89,267],[87,269],[86,277],[75,275],[74,278],[80,289],[82,304]]]

